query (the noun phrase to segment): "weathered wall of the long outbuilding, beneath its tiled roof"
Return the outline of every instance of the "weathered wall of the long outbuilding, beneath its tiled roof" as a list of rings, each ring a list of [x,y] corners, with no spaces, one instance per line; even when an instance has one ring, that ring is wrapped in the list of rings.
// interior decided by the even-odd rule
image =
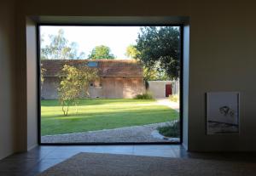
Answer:
[[[41,90],[42,99],[58,99],[58,85],[58,78],[45,77]],[[143,91],[143,77],[104,77],[88,89],[89,97],[93,99],[132,99]],[[84,94],[81,94],[81,98],[83,97]]]

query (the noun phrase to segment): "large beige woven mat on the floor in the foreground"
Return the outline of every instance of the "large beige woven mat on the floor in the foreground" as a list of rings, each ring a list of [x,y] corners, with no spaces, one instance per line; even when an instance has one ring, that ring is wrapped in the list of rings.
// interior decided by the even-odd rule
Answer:
[[[188,158],[79,153],[41,176],[255,176],[256,163]]]

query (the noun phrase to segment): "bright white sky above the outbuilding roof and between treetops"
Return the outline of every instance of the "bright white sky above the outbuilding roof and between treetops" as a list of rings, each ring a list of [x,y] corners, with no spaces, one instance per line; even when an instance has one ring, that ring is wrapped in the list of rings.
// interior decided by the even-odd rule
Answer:
[[[136,44],[140,31],[139,26],[41,26],[40,34],[44,35],[44,44],[49,44],[49,35],[56,35],[63,29],[68,42],[79,44],[79,53],[86,56],[98,45],[108,46],[117,59],[128,59],[126,48]]]

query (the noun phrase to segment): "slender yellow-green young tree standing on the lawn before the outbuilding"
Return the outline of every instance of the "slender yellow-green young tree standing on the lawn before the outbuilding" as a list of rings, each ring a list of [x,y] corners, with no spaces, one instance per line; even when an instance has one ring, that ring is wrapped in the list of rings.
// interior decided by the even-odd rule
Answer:
[[[96,80],[97,71],[88,66],[80,66],[79,68],[64,65],[61,70],[61,82],[58,88],[59,100],[62,106],[64,116],[67,116],[69,106],[75,105],[76,111],[79,103],[79,97],[84,92],[88,93],[89,83]]]

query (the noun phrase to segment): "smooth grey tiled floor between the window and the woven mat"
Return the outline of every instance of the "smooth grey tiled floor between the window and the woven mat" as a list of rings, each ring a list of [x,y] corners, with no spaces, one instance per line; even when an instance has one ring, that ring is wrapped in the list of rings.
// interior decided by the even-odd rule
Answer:
[[[78,154],[79,152],[113,153],[137,156],[195,157],[255,162],[255,155],[234,153],[188,153],[181,145],[86,145],[38,146],[27,153],[15,154],[0,161],[0,175],[31,176]]]

